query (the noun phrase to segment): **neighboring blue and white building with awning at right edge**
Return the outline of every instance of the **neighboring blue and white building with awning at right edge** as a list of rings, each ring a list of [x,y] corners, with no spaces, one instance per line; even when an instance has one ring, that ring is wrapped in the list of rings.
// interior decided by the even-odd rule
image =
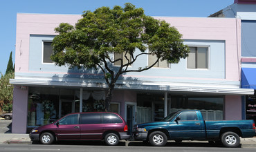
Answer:
[[[241,88],[256,90],[256,0],[235,0],[231,6],[210,17],[241,19],[241,23],[237,23],[241,26]],[[243,100],[246,101],[243,104],[246,119],[256,121],[256,91]]]

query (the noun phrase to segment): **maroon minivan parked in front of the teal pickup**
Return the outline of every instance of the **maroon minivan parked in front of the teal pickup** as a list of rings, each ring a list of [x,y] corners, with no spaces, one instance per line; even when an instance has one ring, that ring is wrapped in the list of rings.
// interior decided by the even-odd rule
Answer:
[[[60,140],[104,140],[113,146],[119,140],[129,139],[127,131],[127,123],[116,113],[71,113],[52,124],[33,129],[29,137],[42,144]]]

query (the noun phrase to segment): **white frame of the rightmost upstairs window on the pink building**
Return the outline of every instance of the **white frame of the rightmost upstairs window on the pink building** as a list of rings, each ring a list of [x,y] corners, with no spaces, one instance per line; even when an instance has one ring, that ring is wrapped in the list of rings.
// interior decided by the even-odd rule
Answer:
[[[207,68],[188,68],[188,57],[186,57],[185,61],[186,61],[186,69],[187,70],[210,70],[210,45],[188,45],[188,47],[193,47],[193,48],[207,48]],[[197,66],[197,49],[196,49],[196,66]]]

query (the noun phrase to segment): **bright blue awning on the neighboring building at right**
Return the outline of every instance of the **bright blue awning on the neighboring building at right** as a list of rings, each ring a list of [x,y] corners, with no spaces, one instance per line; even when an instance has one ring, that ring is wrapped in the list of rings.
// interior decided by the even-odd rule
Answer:
[[[241,68],[241,88],[256,90],[256,68]]]

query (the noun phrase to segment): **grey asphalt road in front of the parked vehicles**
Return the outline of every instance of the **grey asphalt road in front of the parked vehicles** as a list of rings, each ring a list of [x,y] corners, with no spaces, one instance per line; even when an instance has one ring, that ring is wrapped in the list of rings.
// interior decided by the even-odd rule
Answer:
[[[187,145],[187,146],[163,146],[163,147],[155,147],[155,146],[105,146],[105,145],[66,145],[66,144],[52,144],[52,145],[42,145],[42,144],[1,144],[0,151],[2,152],[30,152],[30,151],[62,151],[62,152],[80,152],[80,151],[104,151],[104,152],[113,152],[113,151],[122,151],[122,152],[156,152],[156,151],[185,151],[185,152],[200,152],[200,151],[253,151],[255,149],[248,148],[224,148],[224,147],[208,147],[202,145]]]

